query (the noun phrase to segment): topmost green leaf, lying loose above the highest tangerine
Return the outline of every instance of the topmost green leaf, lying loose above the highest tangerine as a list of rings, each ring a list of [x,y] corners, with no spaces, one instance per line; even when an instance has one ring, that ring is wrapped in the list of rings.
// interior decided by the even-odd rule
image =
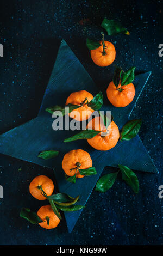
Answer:
[[[120,22],[115,20],[108,20],[104,18],[101,26],[106,30],[108,35],[117,35],[120,33],[126,35],[130,34],[126,28],[122,27]]]

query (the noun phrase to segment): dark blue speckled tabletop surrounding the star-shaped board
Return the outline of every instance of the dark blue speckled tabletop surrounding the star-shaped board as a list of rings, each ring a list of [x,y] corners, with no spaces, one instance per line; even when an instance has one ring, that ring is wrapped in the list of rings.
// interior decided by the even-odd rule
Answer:
[[[100,39],[103,17],[118,19],[130,35],[108,36],[116,47],[115,64],[134,65],[136,74],[152,70],[131,119],[143,118],[139,133],[159,174],[136,172],[140,192],[134,194],[118,179],[106,193],[93,192],[76,227],[67,233],[65,220],[53,230],[32,225],[18,215],[22,206],[33,210],[41,203],[28,191],[38,174],[54,179],[51,169],[0,156],[1,245],[138,245],[163,243],[162,202],[162,38],[161,1],[1,1],[0,43],[0,133],[34,117],[39,112],[61,38],[84,65],[97,86],[109,84],[114,65],[93,64],[85,46],[87,37]],[[22,142],[23,143],[23,142]],[[21,168],[21,171],[18,169]],[[108,173],[110,168],[105,169]],[[116,217],[115,217],[116,216]]]

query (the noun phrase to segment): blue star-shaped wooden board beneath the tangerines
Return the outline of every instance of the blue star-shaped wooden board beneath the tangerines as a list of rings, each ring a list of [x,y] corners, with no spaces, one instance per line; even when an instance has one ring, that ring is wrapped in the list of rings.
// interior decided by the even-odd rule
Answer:
[[[102,110],[111,111],[119,129],[129,119],[130,113],[150,74],[151,72],[149,71],[135,77],[136,94],[133,102],[125,108],[115,108],[112,106],[105,97],[106,91],[103,92],[104,106]],[[66,192],[74,197],[81,194],[80,204],[84,205],[105,166],[117,167],[117,164],[124,164],[131,169],[143,172],[157,173],[158,171],[139,136],[128,142],[118,142],[116,147],[109,151],[97,151],[91,148],[86,140],[71,143],[63,142],[64,138],[74,135],[76,131],[54,131],[52,129],[52,115],[45,112],[45,108],[53,105],[65,105],[68,95],[81,89],[85,89],[93,95],[98,92],[89,74],[87,74],[66,42],[62,40],[39,115],[28,123],[1,135],[0,153],[53,168],[60,192]],[[78,148],[90,153],[93,166],[97,170],[97,175],[78,179],[76,184],[70,184],[65,180],[61,161],[68,151]],[[37,157],[40,151],[48,149],[59,150],[59,156],[51,160],[42,160]],[[81,212],[76,211],[65,214],[69,232],[72,231]]]

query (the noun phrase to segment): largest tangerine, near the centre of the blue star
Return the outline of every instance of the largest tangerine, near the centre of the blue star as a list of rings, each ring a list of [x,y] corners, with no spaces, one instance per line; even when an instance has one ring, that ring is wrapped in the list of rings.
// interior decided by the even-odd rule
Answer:
[[[97,150],[109,150],[114,148],[120,137],[118,126],[114,121],[111,121],[110,125],[105,127],[101,117],[93,118],[88,124],[87,129],[100,131],[91,139],[87,139],[87,142],[91,147]]]

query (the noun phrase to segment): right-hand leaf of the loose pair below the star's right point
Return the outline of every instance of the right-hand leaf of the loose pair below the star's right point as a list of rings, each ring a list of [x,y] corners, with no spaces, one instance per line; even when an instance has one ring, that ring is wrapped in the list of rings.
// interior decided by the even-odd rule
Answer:
[[[122,173],[122,179],[133,189],[137,194],[139,192],[139,180],[137,179],[136,174],[127,166],[122,166],[118,164],[118,167]]]

